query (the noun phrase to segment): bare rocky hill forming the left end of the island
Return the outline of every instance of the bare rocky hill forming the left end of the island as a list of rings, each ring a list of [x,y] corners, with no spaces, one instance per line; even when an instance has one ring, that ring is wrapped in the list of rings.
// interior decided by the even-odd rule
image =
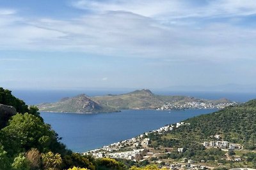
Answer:
[[[38,105],[40,111],[56,111],[56,112],[70,112],[70,113],[101,113],[113,112],[115,109],[107,106],[100,106],[90,98],[81,94],[76,97],[65,97],[57,103],[44,103]]]

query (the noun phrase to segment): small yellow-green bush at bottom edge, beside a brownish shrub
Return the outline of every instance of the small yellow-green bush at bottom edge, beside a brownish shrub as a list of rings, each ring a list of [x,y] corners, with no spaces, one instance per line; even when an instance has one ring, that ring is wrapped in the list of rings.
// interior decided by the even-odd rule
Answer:
[[[42,153],[42,161],[45,170],[58,170],[60,169],[62,159],[59,153]]]

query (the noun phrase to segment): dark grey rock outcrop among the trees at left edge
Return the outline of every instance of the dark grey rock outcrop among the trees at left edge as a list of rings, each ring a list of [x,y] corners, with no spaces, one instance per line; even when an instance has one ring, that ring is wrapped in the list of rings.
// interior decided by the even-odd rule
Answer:
[[[10,117],[15,115],[16,113],[17,111],[13,106],[0,104],[0,129],[5,127]]]

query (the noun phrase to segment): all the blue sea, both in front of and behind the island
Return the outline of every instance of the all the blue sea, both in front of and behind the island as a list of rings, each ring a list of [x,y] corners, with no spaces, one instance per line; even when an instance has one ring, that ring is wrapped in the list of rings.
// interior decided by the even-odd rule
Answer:
[[[124,94],[125,91],[113,91],[110,94]],[[106,91],[81,90],[12,90],[12,94],[29,105],[51,103],[63,97],[86,94],[102,96]],[[154,92],[161,95],[182,95],[204,99],[227,98],[239,103],[256,98],[251,93],[222,92]],[[115,113],[49,113],[41,112],[45,123],[50,124],[62,138],[61,142],[73,152],[86,152],[111,143],[130,139],[144,132],[159,129],[167,124],[175,124],[187,118],[217,111],[204,110],[122,110]]]

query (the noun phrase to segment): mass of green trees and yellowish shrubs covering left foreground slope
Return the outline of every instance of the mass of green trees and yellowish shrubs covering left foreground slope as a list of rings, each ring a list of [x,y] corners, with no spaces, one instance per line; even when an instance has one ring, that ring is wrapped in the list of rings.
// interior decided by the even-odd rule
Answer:
[[[58,134],[44,123],[38,109],[28,108],[23,101],[12,96],[10,90],[0,88],[0,104],[17,107],[19,111],[0,129],[1,170],[125,169],[113,159],[93,159],[67,150],[60,143]]]

